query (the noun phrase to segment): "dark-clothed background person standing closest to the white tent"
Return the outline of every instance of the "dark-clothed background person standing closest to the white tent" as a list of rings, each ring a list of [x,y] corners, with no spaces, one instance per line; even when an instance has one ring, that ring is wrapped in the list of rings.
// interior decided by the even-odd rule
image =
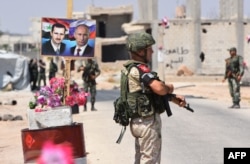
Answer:
[[[37,59],[32,58],[29,62],[29,73],[30,73],[30,85],[31,90],[34,91],[37,89],[37,77],[38,77],[38,65],[37,65]]]

